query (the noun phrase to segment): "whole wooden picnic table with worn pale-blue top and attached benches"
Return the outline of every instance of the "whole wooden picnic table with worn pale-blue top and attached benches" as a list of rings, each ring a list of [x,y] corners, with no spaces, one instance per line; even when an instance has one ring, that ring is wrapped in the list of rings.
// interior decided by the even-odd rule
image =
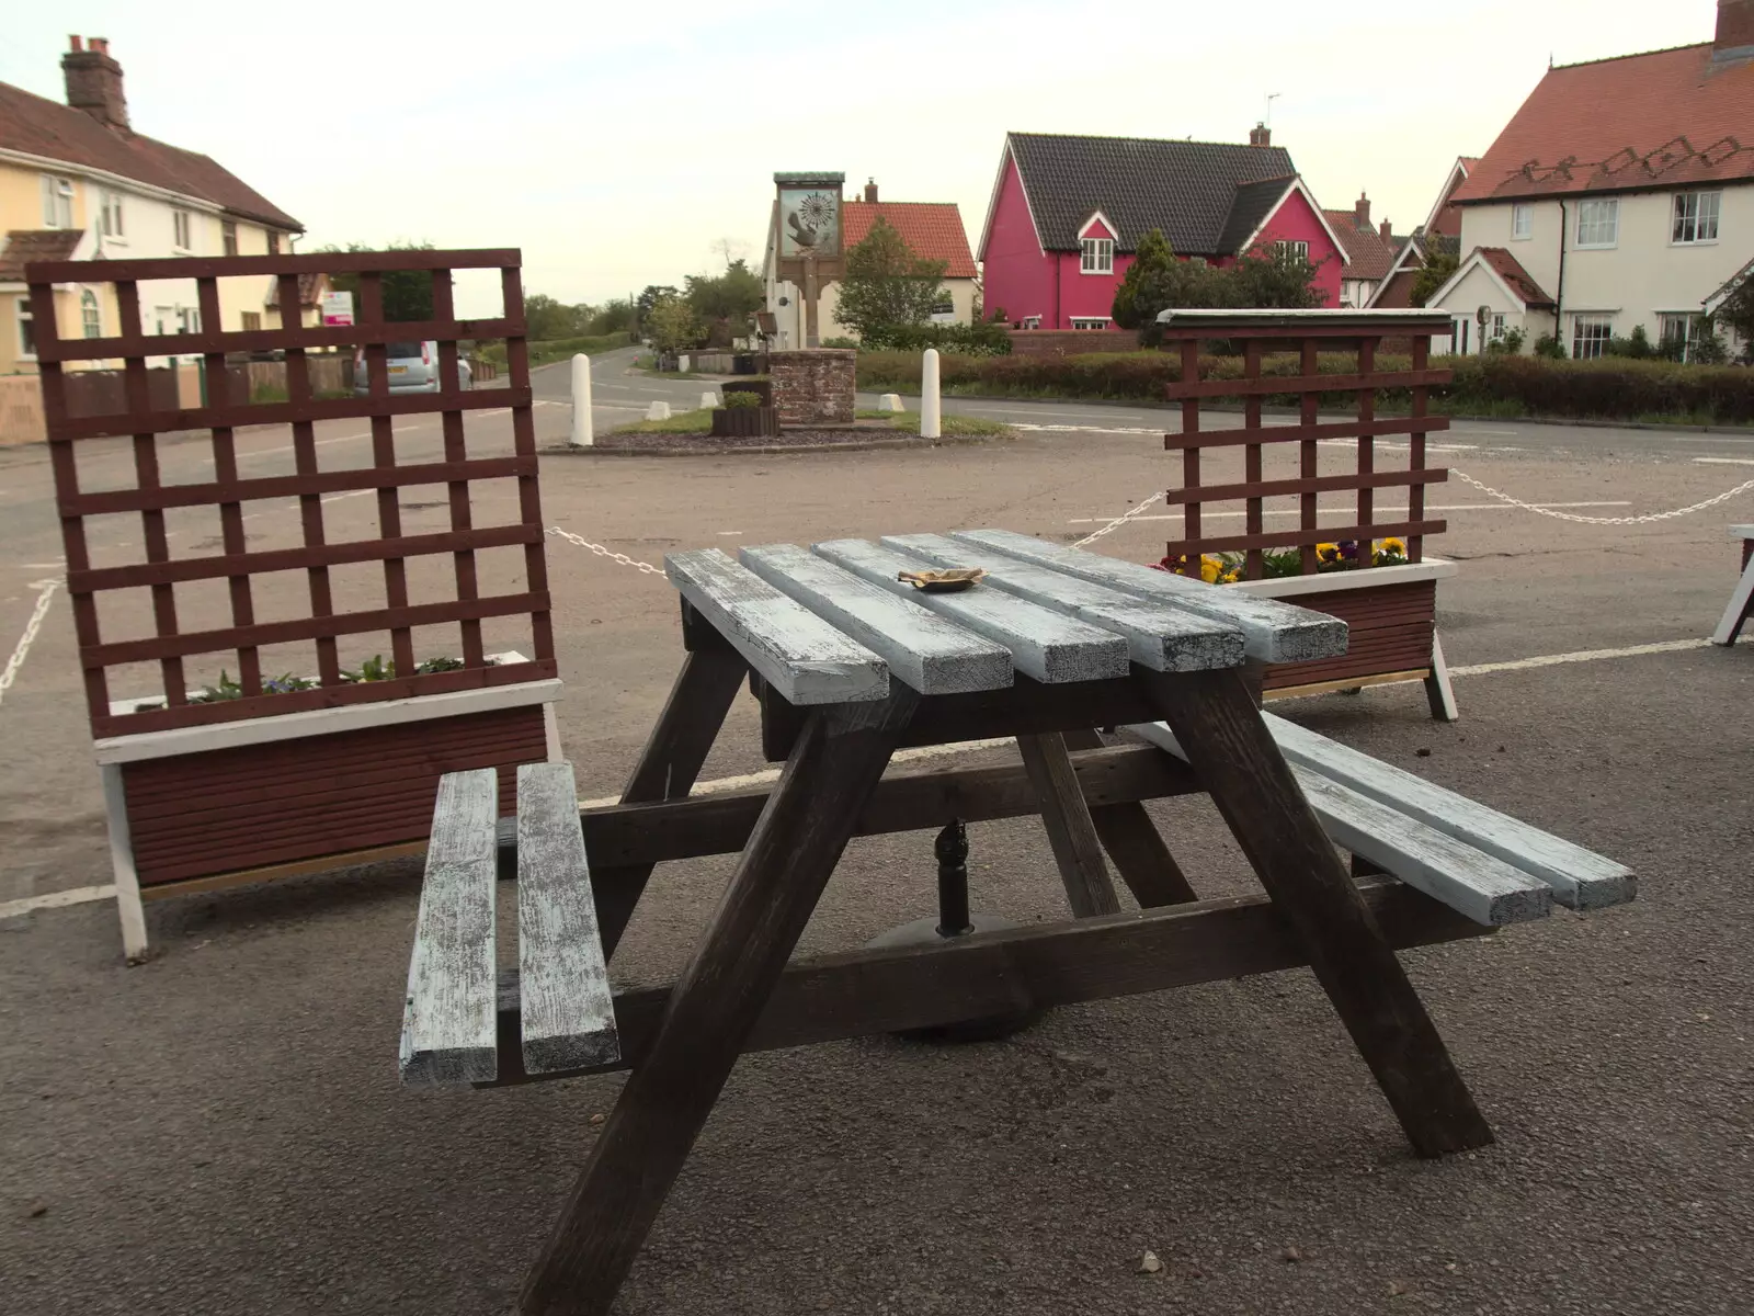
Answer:
[[[896,579],[945,565],[989,574],[963,593]],[[1263,716],[1254,669],[1344,651],[1345,625],[1319,612],[995,530],[667,567],[688,656],[623,804],[575,812],[567,765],[526,765],[516,856],[491,770],[447,777],[433,819],[405,1081],[631,1069],[526,1312],[610,1307],[752,1049],[1308,965],[1414,1149],[1482,1146],[1491,1130],[1394,951],[1633,893],[1612,860]],[[779,783],[688,798],[745,679]],[[1117,726],[1135,742],[1096,730]],[[886,772],[903,746],[984,737],[1016,737],[1021,762]],[[1142,800],[1198,791],[1265,895],[1189,886]],[[1024,814],[1042,816],[1072,921],[789,962],[851,837]],[[1121,911],[1103,849],[1138,912]],[[719,853],[742,858],[682,976],[610,991],[605,962],[652,867]],[[519,883],[519,972],[498,979],[496,860]]]

